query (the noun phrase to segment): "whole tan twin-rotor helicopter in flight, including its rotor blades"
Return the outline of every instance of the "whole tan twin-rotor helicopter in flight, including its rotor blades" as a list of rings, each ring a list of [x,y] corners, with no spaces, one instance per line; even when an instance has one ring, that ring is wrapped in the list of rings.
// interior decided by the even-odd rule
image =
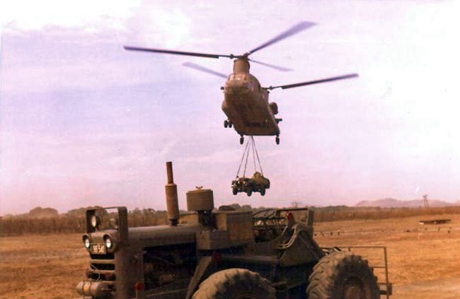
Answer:
[[[343,76],[334,76],[330,78],[322,78],[314,81],[306,81],[294,84],[287,84],[281,86],[270,86],[262,87],[255,76],[249,73],[249,61],[262,64],[264,66],[271,67],[272,69],[277,69],[280,71],[291,71],[281,66],[275,66],[272,64],[266,64],[261,61],[255,61],[249,58],[249,55],[254,52],[275,44],[280,40],[299,33],[301,30],[309,28],[316,23],[311,22],[301,22],[289,30],[280,33],[273,37],[268,42],[265,42],[263,45],[252,49],[249,52],[246,52],[242,55],[234,54],[206,54],[206,53],[197,53],[197,52],[183,52],[175,51],[168,49],[152,49],[146,47],[131,47],[124,46],[125,49],[130,51],[142,51],[142,52],[155,52],[163,54],[176,54],[176,55],[185,55],[185,56],[195,56],[195,57],[205,57],[205,58],[215,58],[228,57],[234,59],[234,71],[229,76],[221,74],[217,71],[207,69],[203,66],[185,63],[184,66],[188,66],[192,69],[197,69],[199,71],[205,71],[209,74],[213,74],[222,78],[226,78],[226,83],[224,87],[221,87],[224,90],[224,101],[222,102],[222,110],[228,117],[224,120],[224,127],[234,127],[236,132],[240,135],[240,143],[243,144],[244,136],[276,136],[275,142],[280,144],[280,127],[278,123],[282,121],[281,118],[275,117],[278,113],[278,105],[276,102],[268,102],[268,94],[270,90],[281,88],[294,88],[300,86],[307,86],[311,84],[324,83],[330,81],[337,81],[346,78],[357,77],[357,74],[347,74]]]

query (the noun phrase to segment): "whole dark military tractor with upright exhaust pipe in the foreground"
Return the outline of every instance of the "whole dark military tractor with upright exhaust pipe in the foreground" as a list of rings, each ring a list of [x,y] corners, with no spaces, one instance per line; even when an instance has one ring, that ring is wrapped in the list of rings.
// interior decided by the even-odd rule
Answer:
[[[170,225],[128,228],[127,209],[88,209],[85,299],[377,299],[366,259],[314,241],[306,208],[214,209],[211,189],[187,192],[179,213],[177,185],[166,163]],[[306,214],[304,221],[294,215]]]

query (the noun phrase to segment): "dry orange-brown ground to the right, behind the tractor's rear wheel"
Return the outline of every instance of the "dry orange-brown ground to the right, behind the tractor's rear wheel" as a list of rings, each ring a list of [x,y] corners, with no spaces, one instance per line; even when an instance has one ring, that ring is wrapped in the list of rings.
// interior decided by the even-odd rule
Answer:
[[[439,218],[452,221],[439,225],[418,224],[420,220]],[[315,233],[322,247],[386,246],[393,299],[460,298],[458,214],[317,223]],[[354,251],[367,257],[374,266],[384,265],[384,260],[379,258],[383,250]],[[374,273],[379,282],[385,281],[383,269],[374,269]]]

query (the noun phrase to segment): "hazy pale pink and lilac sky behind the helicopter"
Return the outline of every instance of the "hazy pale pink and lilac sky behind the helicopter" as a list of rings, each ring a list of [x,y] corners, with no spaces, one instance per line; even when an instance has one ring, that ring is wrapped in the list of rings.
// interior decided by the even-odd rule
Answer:
[[[10,1],[2,4],[0,215],[35,206],[164,209],[173,160],[180,208],[195,186],[216,205],[460,199],[458,1]],[[224,129],[230,59],[127,52],[122,45],[253,54],[273,90],[281,144],[258,137],[271,186],[231,195],[243,147]]]

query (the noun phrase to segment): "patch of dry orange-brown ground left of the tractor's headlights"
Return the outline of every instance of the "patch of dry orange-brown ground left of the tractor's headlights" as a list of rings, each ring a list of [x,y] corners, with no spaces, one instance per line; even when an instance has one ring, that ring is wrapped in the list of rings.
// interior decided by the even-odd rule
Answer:
[[[81,234],[0,238],[0,298],[78,298],[88,252]]]

